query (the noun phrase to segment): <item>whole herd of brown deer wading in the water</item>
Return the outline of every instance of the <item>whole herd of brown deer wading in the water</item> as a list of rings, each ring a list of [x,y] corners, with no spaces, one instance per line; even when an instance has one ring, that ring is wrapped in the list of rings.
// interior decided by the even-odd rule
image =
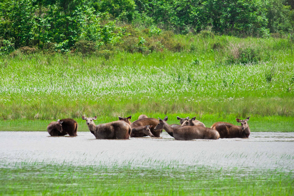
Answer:
[[[219,138],[248,138],[250,135],[250,129],[247,121],[250,116],[245,120],[236,118],[241,126],[233,125],[231,123],[217,122],[214,123],[211,128],[205,127],[205,125],[194,118],[189,119],[180,118],[180,124],[169,125],[166,121],[168,116],[161,119],[148,118],[142,114],[138,120],[131,123],[132,116],[126,118],[118,117],[117,121],[110,123],[104,123],[95,125],[94,118],[86,118],[82,116],[83,120],[86,120],[86,124],[90,132],[96,139],[129,139],[130,137],[160,137],[162,130],[164,129],[171,137],[176,140],[193,140],[193,139],[209,139],[217,140]],[[47,131],[51,136],[70,135],[77,136],[78,123],[71,118],[65,118],[51,122],[47,126]]]

